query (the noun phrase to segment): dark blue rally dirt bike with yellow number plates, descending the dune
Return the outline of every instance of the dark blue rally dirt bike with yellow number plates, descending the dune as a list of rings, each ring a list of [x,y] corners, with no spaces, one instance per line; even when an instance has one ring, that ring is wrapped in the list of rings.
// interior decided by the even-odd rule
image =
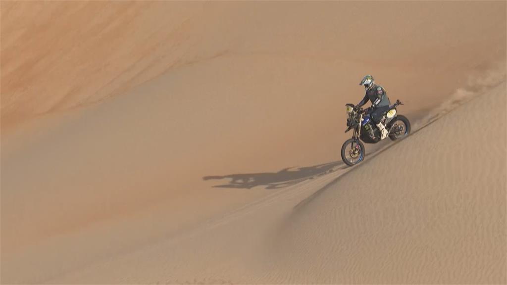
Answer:
[[[398,115],[396,107],[403,105],[400,100],[389,106],[389,109],[382,114],[381,123],[387,130],[387,136],[391,140],[401,139],[410,134],[410,122],[402,115]],[[347,129],[345,132],[354,130],[352,138],[347,139],[342,146],[342,160],[349,166],[363,161],[365,158],[366,144],[376,144],[381,139],[381,131],[370,118],[369,112],[354,104],[346,104],[347,107]],[[373,135],[371,135],[373,134]],[[386,136],[386,138],[387,138]]]

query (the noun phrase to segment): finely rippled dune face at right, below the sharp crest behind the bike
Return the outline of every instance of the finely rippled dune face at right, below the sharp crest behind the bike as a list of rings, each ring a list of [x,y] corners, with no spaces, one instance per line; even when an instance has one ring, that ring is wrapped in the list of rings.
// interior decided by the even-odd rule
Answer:
[[[505,103],[503,83],[303,200],[280,251],[322,281],[506,282]]]

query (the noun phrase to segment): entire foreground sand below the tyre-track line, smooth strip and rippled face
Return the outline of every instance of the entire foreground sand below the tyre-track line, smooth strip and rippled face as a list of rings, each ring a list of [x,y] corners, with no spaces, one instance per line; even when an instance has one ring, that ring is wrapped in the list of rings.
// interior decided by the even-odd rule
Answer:
[[[51,282],[504,283],[505,87],[346,174]]]

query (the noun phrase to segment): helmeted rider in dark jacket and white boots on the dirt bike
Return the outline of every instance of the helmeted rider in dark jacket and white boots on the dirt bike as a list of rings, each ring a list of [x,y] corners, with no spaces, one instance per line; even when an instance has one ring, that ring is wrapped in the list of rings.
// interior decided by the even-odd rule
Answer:
[[[387,97],[387,93],[382,86],[375,84],[375,80],[371,75],[365,76],[359,85],[365,86],[366,94],[363,100],[357,104],[357,107],[363,106],[366,104],[366,102],[368,102],[368,100],[372,102],[369,114],[372,121],[377,125],[381,132],[380,138],[384,139],[387,136],[387,130],[385,129],[385,126],[380,122],[380,120],[382,119],[384,113],[389,109],[389,104],[391,103]],[[371,128],[370,137],[373,139],[375,138],[373,135],[373,130]]]

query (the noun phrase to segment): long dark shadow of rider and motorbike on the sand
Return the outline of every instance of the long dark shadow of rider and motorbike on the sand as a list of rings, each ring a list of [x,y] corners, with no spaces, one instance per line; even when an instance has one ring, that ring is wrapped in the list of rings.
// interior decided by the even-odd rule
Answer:
[[[341,166],[341,167],[340,167]],[[347,168],[341,161],[324,163],[308,167],[284,168],[278,172],[265,173],[237,173],[223,176],[204,176],[203,180],[229,179],[227,184],[215,185],[219,188],[251,189],[257,186],[264,186],[266,189],[278,189],[313,179],[337,169]]]

